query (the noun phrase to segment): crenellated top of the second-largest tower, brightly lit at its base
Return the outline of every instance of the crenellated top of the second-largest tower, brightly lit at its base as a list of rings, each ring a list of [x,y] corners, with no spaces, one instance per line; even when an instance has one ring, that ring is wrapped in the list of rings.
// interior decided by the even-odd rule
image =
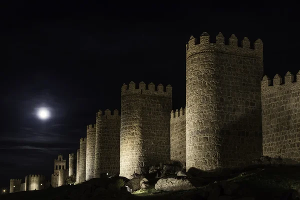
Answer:
[[[147,87],[147,88],[146,88]],[[150,96],[159,96],[159,97],[172,97],[172,86],[166,85],[164,87],[162,84],[158,84],[155,88],[155,84],[150,82],[149,84],[145,84],[141,81],[138,85],[136,85],[133,81],[129,82],[129,84],[123,83],[121,87],[121,96],[125,95],[150,95]]]

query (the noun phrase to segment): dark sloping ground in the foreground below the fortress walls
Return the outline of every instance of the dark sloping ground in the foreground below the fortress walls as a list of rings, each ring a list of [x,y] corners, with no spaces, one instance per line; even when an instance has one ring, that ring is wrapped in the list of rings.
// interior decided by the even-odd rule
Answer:
[[[175,177],[174,175],[170,177]],[[166,177],[165,177],[166,178]],[[300,166],[269,166],[244,169],[217,177],[185,178],[196,185],[181,191],[157,191],[159,178],[149,179],[146,189],[126,191],[126,178],[93,178],[82,184],[0,195],[1,200],[41,199],[297,199],[300,200]],[[121,188],[120,188],[121,187]]]

